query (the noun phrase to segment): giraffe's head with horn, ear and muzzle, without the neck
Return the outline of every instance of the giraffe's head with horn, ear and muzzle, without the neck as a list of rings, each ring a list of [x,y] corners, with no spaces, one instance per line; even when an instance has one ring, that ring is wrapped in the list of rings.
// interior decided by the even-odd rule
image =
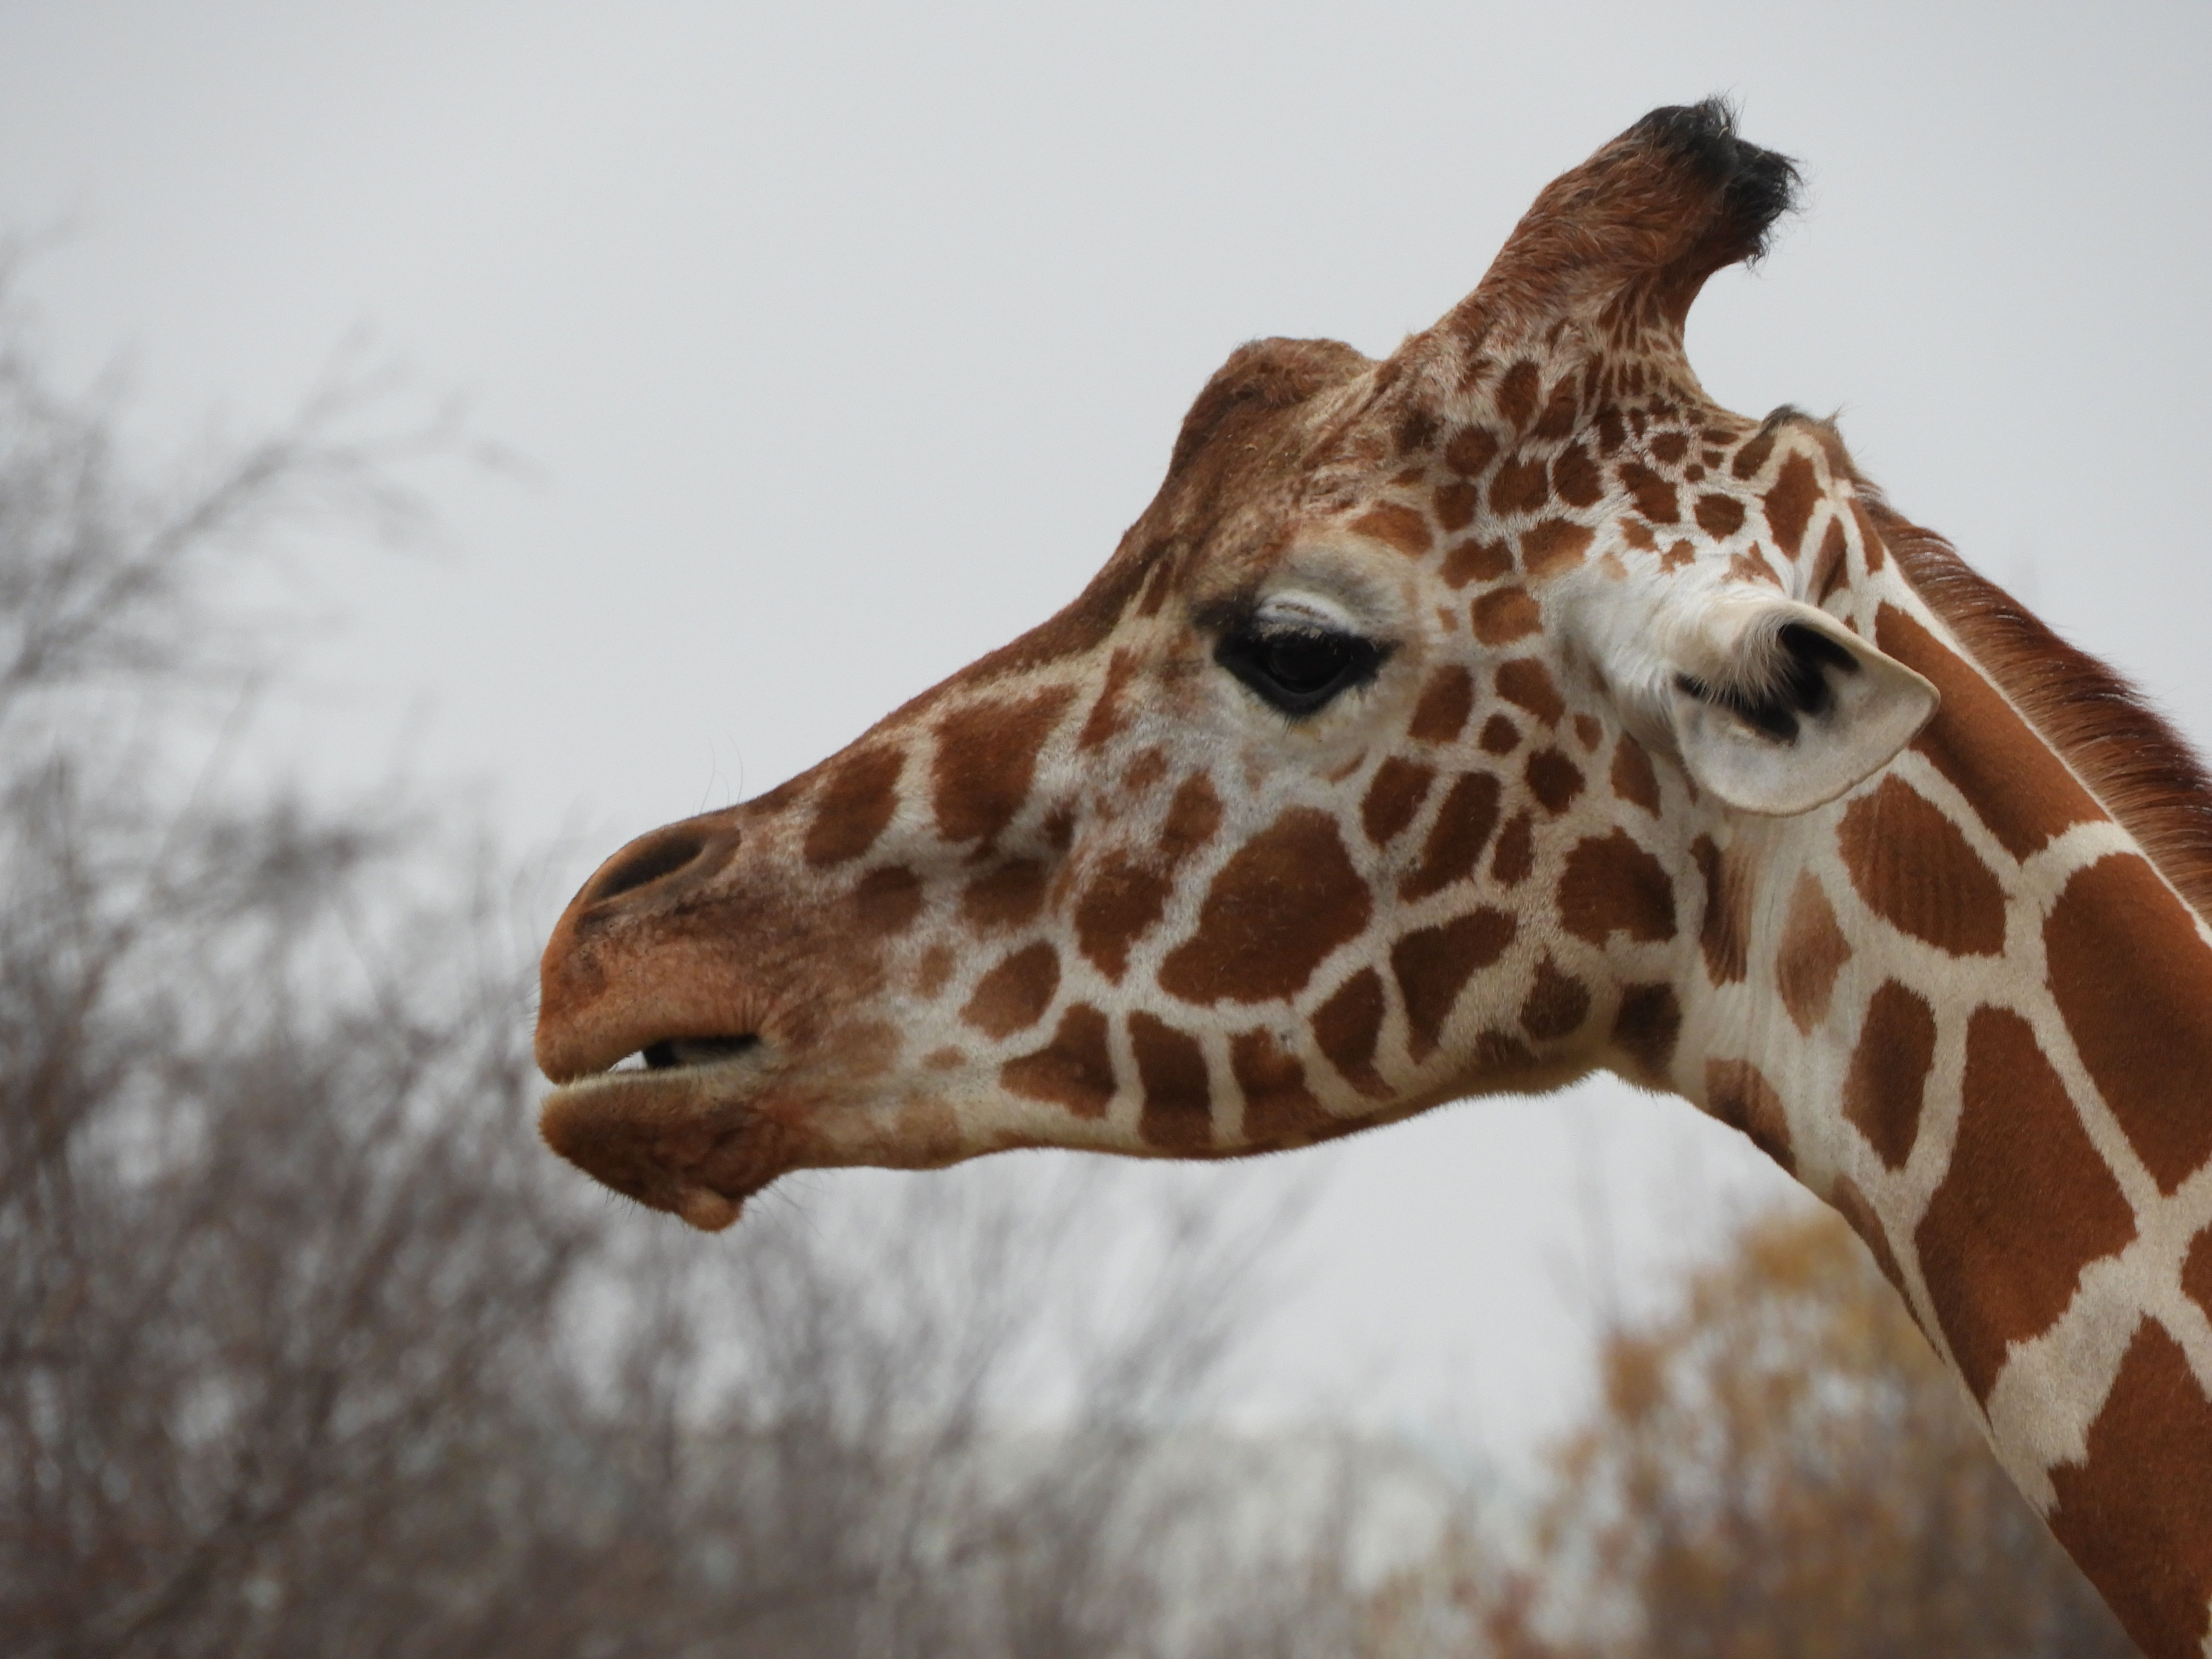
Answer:
[[[586,883],[551,1146],[714,1228],[794,1168],[1670,1086],[1714,825],[1936,706],[1820,608],[1878,557],[1840,449],[1683,358],[1792,186],[1717,104],[1657,111],[1391,358],[1239,349],[1073,606]]]

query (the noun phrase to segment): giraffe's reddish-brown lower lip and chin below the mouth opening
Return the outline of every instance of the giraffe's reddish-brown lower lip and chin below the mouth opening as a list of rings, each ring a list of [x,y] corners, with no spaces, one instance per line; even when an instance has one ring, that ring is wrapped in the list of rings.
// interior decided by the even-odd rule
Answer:
[[[745,1199],[805,1157],[772,1108],[734,1093],[717,1071],[604,1073],[564,1084],[544,1097],[538,1133],[602,1186],[721,1232]]]

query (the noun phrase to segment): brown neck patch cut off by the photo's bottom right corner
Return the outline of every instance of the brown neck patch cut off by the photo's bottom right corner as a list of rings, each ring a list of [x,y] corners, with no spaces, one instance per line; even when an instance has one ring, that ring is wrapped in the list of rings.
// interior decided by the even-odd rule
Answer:
[[[2051,1531],[2143,1652],[2194,1655],[2212,1599],[2212,1400],[2163,1325],[2146,1318],[2088,1458],[2051,1471]]]

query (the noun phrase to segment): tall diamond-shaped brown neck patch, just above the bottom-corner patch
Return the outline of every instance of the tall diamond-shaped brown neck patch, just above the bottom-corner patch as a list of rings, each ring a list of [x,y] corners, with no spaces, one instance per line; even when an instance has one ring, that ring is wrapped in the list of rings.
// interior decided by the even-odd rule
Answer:
[[[2135,1239],[2135,1214],[2097,1157],[2035,1029],[1975,1009],[1958,1144],[1913,1245],[1929,1301],[1973,1398],[2004,1352],[2051,1329],[2081,1270]]]

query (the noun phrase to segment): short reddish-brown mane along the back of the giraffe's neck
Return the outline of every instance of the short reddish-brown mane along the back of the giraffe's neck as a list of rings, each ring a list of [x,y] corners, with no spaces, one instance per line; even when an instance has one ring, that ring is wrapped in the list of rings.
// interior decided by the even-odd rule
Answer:
[[[1869,491],[1871,495],[1871,491]],[[2212,920],[2212,776],[2135,686],[2059,639],[1951,544],[1869,500],[1905,580],[1975,664],[2119,818],[2159,872]]]

